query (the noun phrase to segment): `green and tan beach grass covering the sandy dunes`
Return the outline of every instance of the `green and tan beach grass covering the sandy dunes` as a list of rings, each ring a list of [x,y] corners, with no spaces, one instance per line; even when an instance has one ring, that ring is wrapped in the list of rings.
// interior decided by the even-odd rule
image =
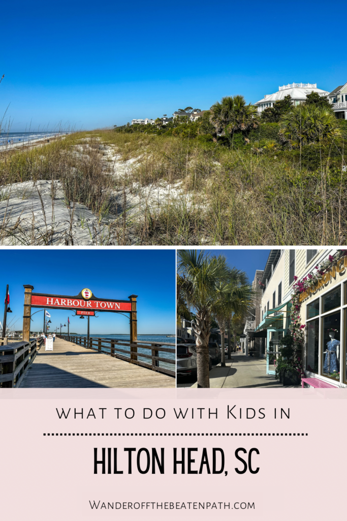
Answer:
[[[132,162],[112,175],[105,159]],[[344,142],[299,151],[232,148],[150,133],[95,130],[0,156],[0,195],[12,183],[59,180],[67,204],[108,220],[109,244],[343,245],[347,236]],[[169,196],[145,201],[130,219],[139,187]],[[119,202],[121,201],[122,204]],[[4,230],[3,230],[4,232]]]

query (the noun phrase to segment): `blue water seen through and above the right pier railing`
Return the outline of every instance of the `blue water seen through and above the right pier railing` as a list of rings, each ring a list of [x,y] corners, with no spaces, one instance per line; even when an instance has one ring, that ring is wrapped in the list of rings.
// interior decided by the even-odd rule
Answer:
[[[72,334],[72,333],[70,333]],[[77,336],[79,337],[86,337],[87,335],[86,334],[78,334]],[[127,340],[129,341],[130,340],[130,335],[128,334],[91,334],[90,335],[91,337],[93,338],[107,338],[107,339],[110,339],[110,340]],[[150,335],[150,334],[138,334],[137,335],[137,340],[138,341],[145,341],[145,342],[158,342],[158,343],[161,343],[161,342],[167,342],[167,343],[170,343],[172,344],[173,347],[175,347],[176,345],[176,338],[166,338],[166,335],[165,334],[153,334],[153,335]],[[106,352],[110,352],[110,344],[108,343],[102,343],[101,342],[101,345],[103,346],[103,350],[106,351]],[[116,347],[116,346],[115,346]],[[124,350],[127,350],[126,346],[124,345],[120,345],[119,346],[121,349],[124,349]],[[165,347],[165,346],[164,346]],[[166,347],[170,347],[169,345],[167,345]],[[117,353],[117,349],[115,349],[115,352]],[[130,350],[128,351],[128,353],[130,354]],[[145,353],[147,355],[151,354],[151,352],[148,350],[148,349],[142,349],[140,347],[137,348],[137,353],[140,354],[140,353]],[[119,354],[123,354],[124,356],[128,356],[126,353],[122,353],[121,351],[119,352]],[[164,353],[164,352],[159,352],[159,356],[162,356],[163,358],[170,358],[172,360],[175,360],[176,359],[176,356],[174,353]],[[151,359],[150,358],[145,358],[145,357],[142,357],[142,356],[138,356],[138,359],[141,360],[142,362],[146,362],[147,364],[150,364],[151,363]],[[168,364],[166,362],[159,362],[159,365],[161,367],[165,367],[165,369],[171,369],[172,371],[175,370],[175,365],[173,364]]]

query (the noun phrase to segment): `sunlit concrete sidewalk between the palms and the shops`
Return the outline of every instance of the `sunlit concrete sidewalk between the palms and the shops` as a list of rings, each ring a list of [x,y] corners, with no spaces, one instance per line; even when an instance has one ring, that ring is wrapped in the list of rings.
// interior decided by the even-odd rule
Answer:
[[[211,389],[301,387],[282,386],[274,375],[267,375],[266,359],[264,358],[253,358],[241,353],[232,353],[232,359],[226,359],[225,364],[226,367],[221,367],[219,364],[210,371]],[[194,383],[191,387],[196,388],[197,383]]]

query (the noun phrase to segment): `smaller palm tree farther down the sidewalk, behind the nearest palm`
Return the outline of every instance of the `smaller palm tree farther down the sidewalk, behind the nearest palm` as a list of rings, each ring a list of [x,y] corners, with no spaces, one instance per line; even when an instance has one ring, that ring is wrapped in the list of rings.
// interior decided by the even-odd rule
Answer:
[[[229,282],[221,283],[217,288],[218,298],[213,307],[214,316],[221,331],[221,367],[225,367],[224,336],[227,324],[233,319],[245,316],[254,301],[252,286],[246,283],[245,272],[233,268],[230,270],[229,276]]]

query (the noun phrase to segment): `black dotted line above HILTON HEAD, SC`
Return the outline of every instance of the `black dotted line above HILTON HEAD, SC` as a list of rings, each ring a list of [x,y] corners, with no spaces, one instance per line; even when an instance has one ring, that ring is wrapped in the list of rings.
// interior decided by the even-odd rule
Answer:
[[[307,432],[44,432],[43,436],[309,436]]]

